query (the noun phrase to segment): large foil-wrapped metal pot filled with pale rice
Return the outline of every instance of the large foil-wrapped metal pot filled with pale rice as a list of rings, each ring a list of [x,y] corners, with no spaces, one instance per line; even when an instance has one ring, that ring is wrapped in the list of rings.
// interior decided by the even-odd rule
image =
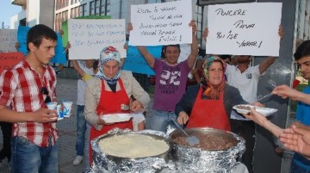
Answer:
[[[123,135],[141,135],[150,136],[154,139],[165,141],[169,145],[169,149],[161,154],[149,156],[145,158],[128,158],[112,156],[101,152],[99,141],[105,140],[112,136]],[[138,143],[138,141],[136,141]],[[174,167],[172,163],[168,163],[171,158],[170,151],[172,150],[172,141],[168,136],[158,136],[156,134],[143,134],[135,132],[117,132],[111,134],[104,134],[94,139],[92,142],[93,148],[93,166],[94,172],[158,172],[164,167]],[[117,141],[115,141],[117,143]]]

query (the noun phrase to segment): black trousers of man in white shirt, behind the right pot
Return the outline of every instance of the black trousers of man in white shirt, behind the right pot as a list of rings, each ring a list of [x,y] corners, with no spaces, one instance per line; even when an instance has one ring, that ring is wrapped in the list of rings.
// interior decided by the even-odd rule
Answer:
[[[242,155],[242,163],[247,166],[250,173],[253,172],[253,150],[256,141],[256,123],[254,121],[240,121],[230,119],[231,132],[245,139],[245,153]]]

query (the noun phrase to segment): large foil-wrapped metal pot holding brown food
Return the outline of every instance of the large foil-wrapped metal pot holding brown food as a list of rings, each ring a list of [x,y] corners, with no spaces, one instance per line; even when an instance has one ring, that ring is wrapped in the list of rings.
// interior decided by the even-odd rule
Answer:
[[[189,128],[185,131],[190,136],[214,134],[229,142],[235,141],[236,145],[225,150],[201,150],[174,142],[172,157],[178,170],[183,172],[233,172],[236,169],[236,158],[242,156],[245,151],[245,140],[242,137],[232,132],[212,128]],[[184,136],[184,134],[180,130],[175,130],[169,136],[173,141],[177,136]]]

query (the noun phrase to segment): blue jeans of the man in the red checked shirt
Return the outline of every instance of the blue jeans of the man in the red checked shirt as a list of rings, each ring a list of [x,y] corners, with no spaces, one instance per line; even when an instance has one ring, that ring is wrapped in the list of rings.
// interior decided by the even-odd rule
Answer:
[[[12,138],[11,172],[59,172],[58,147],[56,143],[40,147],[19,136]]]

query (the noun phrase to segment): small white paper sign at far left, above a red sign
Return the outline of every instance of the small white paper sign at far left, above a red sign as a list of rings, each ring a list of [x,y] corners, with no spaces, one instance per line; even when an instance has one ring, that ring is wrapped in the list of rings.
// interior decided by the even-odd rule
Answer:
[[[0,52],[17,52],[17,30],[0,29]]]

